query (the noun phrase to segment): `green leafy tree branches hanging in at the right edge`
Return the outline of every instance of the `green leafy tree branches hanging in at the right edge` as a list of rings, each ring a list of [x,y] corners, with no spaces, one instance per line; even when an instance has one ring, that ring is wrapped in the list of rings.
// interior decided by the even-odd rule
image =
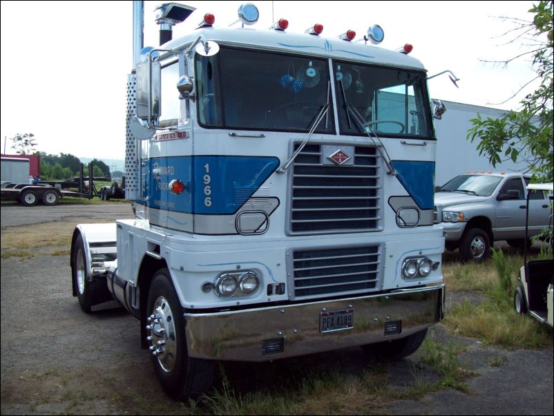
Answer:
[[[539,182],[553,181],[553,1],[539,1],[529,12],[533,22],[515,20],[519,27],[510,30],[517,35],[513,41],[531,41],[533,49],[503,61],[508,65],[515,59],[533,57],[535,79],[539,87],[522,100],[519,112],[510,111],[503,117],[470,120],[473,127],[468,140],[480,140],[479,154],[486,155],[495,167],[504,158],[514,162],[524,158]],[[532,79],[526,85],[533,82]],[[523,87],[522,87],[523,88]]]

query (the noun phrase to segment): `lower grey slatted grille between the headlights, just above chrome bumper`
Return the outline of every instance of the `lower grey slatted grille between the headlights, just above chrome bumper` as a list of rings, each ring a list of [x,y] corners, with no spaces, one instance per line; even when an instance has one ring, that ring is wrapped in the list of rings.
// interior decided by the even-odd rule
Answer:
[[[294,297],[379,290],[379,257],[379,246],[295,251]]]

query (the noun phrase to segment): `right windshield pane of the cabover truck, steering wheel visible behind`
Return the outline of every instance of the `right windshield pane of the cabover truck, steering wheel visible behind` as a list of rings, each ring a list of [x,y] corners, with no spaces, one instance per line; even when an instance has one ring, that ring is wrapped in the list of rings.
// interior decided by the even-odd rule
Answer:
[[[430,137],[426,75],[392,68],[335,62],[341,134]],[[356,115],[359,115],[356,117]]]

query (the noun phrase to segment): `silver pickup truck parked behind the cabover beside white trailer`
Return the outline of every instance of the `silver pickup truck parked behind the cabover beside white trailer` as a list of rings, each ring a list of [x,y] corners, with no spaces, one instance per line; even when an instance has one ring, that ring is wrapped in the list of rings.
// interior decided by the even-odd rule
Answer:
[[[463,261],[481,261],[493,241],[510,246],[525,240],[526,185],[521,173],[466,173],[456,176],[434,194],[434,222],[446,235],[446,249],[459,249]],[[533,192],[529,201],[528,238],[551,223],[550,200]]]

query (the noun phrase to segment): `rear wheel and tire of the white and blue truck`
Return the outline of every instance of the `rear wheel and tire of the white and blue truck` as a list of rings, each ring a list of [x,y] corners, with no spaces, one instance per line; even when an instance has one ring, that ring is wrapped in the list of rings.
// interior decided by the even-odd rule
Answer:
[[[90,312],[93,312],[93,305],[113,299],[105,279],[98,281],[90,281],[88,279],[89,272],[86,268],[85,249],[81,234],[75,240],[75,250],[73,251],[71,265],[73,287],[75,287],[75,294],[77,299],[79,299],[79,305],[83,312],[90,314]]]

